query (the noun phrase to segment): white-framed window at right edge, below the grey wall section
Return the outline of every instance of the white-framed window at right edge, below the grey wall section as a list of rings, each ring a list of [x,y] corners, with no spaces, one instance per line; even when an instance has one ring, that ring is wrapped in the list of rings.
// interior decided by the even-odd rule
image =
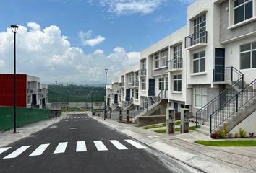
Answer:
[[[240,46],[240,68],[256,68],[256,42]]]

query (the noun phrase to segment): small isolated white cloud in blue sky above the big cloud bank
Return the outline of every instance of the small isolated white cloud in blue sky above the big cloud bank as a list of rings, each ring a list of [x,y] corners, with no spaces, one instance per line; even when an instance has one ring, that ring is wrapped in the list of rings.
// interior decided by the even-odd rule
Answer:
[[[87,32],[79,32],[79,37],[83,45],[90,45],[91,47],[93,47],[102,43],[105,40],[105,37],[102,37],[101,35],[92,38],[92,34],[92,30],[88,30]]]

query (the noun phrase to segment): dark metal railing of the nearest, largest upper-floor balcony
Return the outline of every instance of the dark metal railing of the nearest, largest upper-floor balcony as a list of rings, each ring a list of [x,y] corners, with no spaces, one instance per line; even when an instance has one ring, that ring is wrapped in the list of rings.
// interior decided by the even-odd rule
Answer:
[[[207,43],[208,32],[207,31],[199,31],[195,32],[192,35],[189,35],[185,38],[185,48],[192,47],[193,45],[197,45],[200,43]]]

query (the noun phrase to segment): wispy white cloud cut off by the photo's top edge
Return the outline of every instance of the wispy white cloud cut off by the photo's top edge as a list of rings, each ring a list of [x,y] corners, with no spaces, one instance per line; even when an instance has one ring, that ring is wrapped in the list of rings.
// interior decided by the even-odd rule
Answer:
[[[100,0],[108,12],[117,15],[124,14],[149,14],[154,12],[166,0]]]

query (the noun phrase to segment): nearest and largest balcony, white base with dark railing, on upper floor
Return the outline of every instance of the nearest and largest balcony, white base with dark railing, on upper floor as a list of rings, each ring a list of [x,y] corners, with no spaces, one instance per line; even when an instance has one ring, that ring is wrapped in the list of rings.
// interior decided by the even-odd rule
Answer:
[[[194,50],[196,48],[202,48],[207,45],[207,39],[207,31],[195,32],[185,38],[185,49]]]

